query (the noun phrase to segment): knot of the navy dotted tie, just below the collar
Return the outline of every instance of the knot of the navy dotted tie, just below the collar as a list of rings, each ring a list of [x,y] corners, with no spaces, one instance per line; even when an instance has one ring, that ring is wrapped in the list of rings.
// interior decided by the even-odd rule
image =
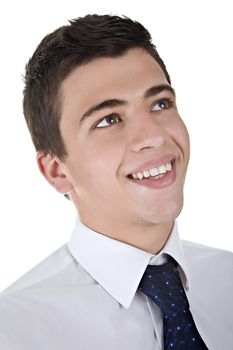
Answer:
[[[163,265],[148,265],[139,284],[139,290],[158,304],[165,315],[186,313],[189,307],[177,265],[171,257]]]

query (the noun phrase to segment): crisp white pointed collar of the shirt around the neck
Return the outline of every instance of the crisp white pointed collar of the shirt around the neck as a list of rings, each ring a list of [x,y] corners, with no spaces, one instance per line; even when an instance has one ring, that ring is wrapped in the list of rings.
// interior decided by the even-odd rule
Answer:
[[[125,308],[130,306],[147,265],[161,263],[166,254],[178,262],[188,288],[188,268],[176,223],[157,255],[97,233],[78,219],[68,248],[81,266]]]

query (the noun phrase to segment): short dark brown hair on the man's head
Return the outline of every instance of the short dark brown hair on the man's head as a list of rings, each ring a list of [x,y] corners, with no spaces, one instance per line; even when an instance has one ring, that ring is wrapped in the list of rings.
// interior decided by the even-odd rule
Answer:
[[[126,16],[88,14],[46,35],[26,65],[23,112],[36,151],[64,161],[61,136],[60,87],[73,69],[101,57],[118,57],[129,49],[142,48],[170,77],[151,35]]]

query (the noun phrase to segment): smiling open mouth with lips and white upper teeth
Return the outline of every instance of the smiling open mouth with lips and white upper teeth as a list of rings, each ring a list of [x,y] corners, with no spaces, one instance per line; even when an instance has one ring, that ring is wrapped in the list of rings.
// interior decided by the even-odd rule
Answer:
[[[158,167],[128,174],[127,178],[135,184],[149,188],[159,189],[167,187],[176,179],[175,159],[161,164]]]

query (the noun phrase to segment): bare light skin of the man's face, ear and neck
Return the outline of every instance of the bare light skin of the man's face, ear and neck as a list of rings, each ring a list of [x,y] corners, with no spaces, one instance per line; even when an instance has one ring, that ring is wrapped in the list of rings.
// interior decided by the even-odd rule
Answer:
[[[189,136],[175,97],[165,90],[144,98],[148,88],[161,84],[168,85],[162,69],[140,48],[76,68],[61,85],[60,128],[68,156],[62,162],[37,155],[50,184],[71,193],[81,222],[152,254],[163,248],[182,209],[189,161]],[[107,99],[127,103],[99,110],[80,126],[82,115]],[[111,123],[103,120],[113,112]],[[176,157],[173,184],[151,189],[127,178],[167,154]]]

